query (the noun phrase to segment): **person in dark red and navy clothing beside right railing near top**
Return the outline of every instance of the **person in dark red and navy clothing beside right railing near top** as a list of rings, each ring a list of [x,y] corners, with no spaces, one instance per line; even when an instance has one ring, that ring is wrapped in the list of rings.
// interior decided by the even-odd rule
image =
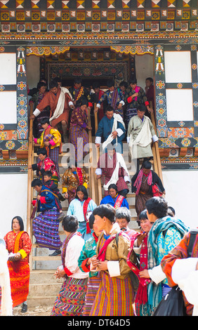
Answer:
[[[151,112],[150,104],[145,95],[145,91],[142,87],[137,85],[137,79],[130,79],[129,88],[126,92],[126,100],[127,100],[127,109],[126,109],[126,123],[128,125],[131,117],[137,114],[138,106],[145,105],[147,112]]]

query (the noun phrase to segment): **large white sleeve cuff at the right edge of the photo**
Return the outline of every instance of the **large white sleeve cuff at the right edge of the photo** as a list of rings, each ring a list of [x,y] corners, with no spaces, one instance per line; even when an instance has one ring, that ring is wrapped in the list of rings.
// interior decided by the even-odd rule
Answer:
[[[190,275],[190,272],[196,270],[198,258],[176,259],[171,270],[173,282],[178,284],[180,280],[185,279]]]

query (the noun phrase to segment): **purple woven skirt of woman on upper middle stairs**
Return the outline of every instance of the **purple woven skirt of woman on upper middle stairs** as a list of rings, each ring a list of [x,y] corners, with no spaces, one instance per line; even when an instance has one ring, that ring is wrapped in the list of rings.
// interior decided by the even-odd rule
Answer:
[[[75,148],[75,161],[81,162],[87,154],[84,146],[88,143],[88,133],[84,128],[79,126],[70,127],[70,143]],[[72,155],[74,157],[74,155]]]

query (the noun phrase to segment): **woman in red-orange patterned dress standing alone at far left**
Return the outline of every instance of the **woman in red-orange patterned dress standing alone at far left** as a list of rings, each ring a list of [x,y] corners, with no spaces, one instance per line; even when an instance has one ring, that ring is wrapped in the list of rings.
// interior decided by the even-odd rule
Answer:
[[[22,303],[21,312],[27,312],[27,295],[29,293],[29,253],[32,242],[20,216],[12,220],[11,232],[4,237],[8,250],[8,270],[11,279],[11,297],[13,307]]]

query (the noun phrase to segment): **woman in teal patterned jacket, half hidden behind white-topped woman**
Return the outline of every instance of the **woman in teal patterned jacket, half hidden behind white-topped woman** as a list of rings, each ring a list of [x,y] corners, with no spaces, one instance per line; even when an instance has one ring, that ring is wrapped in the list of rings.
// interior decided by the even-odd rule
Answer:
[[[96,245],[102,230],[98,230],[97,225],[95,225],[95,217],[93,216],[93,213],[89,217],[88,221],[89,227],[93,230],[92,237],[85,242],[81,255],[79,256],[79,268],[82,272],[88,272],[88,284],[83,311],[84,316],[88,316],[90,314],[93,301],[95,300],[95,296],[101,282],[100,272],[91,272],[90,267],[91,260],[93,256],[96,255]]]

